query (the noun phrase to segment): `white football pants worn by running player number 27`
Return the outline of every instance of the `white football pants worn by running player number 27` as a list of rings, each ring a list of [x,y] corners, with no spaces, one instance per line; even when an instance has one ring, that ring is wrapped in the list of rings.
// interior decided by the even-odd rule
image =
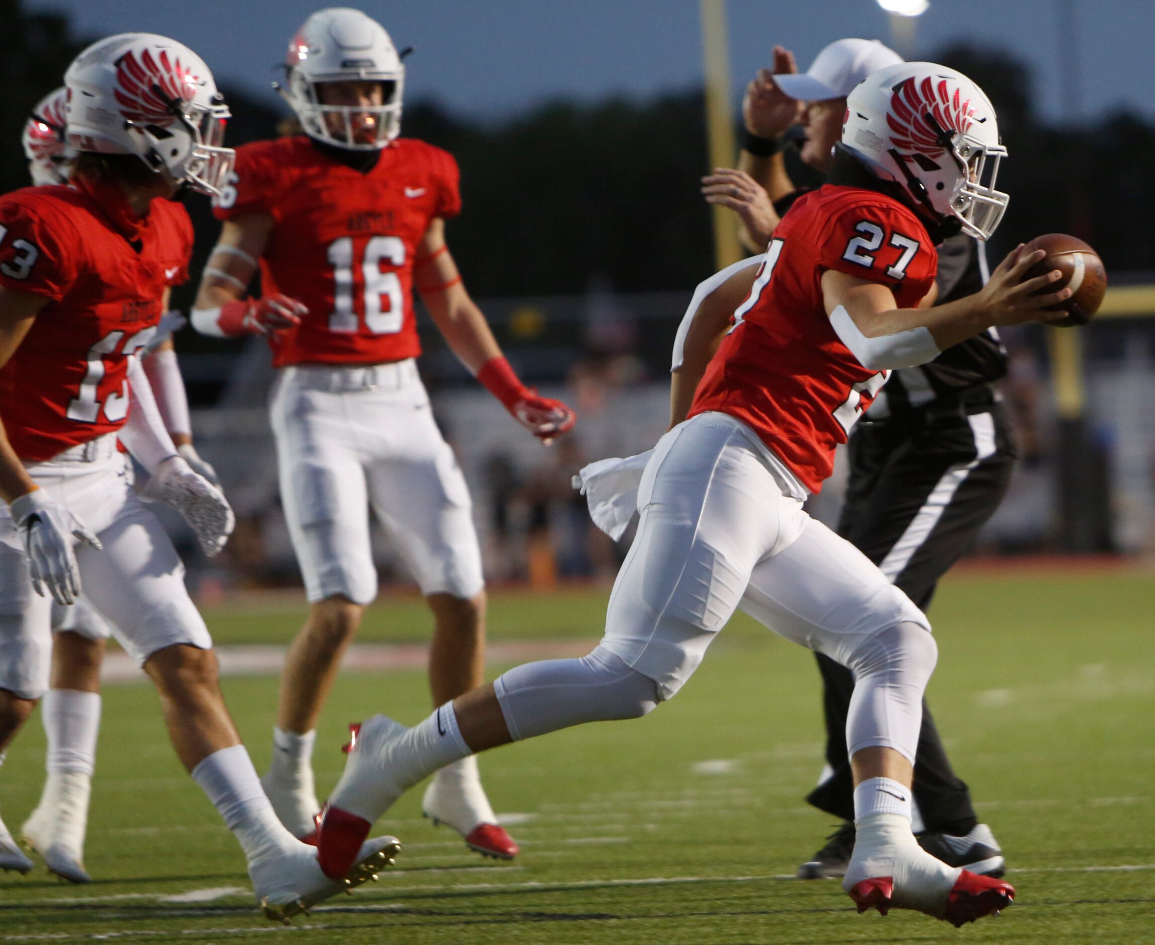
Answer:
[[[642,477],[641,521],[605,637],[594,658],[534,663],[497,680],[511,732],[541,734],[538,714],[554,728],[644,714],[655,697],[678,692],[740,605],[856,672],[851,752],[886,746],[914,760],[937,656],[930,624],[785,491],[765,447],[732,417],[705,414],[666,433]],[[608,702],[619,714],[609,716]]]

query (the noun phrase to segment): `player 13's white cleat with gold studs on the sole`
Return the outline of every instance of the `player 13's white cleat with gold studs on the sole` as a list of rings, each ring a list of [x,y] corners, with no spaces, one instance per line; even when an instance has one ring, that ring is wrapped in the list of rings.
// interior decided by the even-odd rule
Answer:
[[[276,851],[251,862],[248,876],[264,917],[288,925],[290,918],[318,902],[375,880],[381,870],[393,865],[400,850],[395,836],[366,840],[352,868],[333,878],[321,871],[316,850],[301,843],[288,854]]]

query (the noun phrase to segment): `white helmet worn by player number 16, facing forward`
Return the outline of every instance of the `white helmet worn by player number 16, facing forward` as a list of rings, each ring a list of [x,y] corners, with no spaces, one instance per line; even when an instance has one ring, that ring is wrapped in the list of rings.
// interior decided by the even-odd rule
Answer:
[[[401,133],[401,94],[405,67],[380,23],[360,10],[318,10],[289,43],[285,84],[273,83],[296,112],[305,134],[351,150],[379,150]],[[380,82],[381,105],[322,105],[322,82]],[[335,132],[329,118],[337,120]],[[373,122],[372,141],[358,141],[355,119]]]

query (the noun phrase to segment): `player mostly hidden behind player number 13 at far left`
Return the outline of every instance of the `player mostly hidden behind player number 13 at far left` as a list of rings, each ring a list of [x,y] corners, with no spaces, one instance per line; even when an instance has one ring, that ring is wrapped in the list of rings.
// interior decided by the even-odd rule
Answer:
[[[33,185],[68,183],[76,155],[65,128],[66,97],[61,85],[40,99],[24,122],[22,143]],[[169,307],[167,291],[166,287],[161,311]],[[215,470],[193,446],[185,382],[164,321],[141,352],[144,373],[178,455],[217,485]],[[100,726],[100,662],[110,630],[96,608],[79,595],[68,607],[53,603],[52,631],[51,687],[40,702],[47,779],[21,835],[44,857],[51,872],[73,883],[88,883],[84,832]]]

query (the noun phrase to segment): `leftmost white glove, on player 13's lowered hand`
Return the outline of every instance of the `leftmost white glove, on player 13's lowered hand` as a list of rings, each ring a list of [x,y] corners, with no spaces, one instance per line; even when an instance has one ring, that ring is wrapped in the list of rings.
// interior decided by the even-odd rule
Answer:
[[[12,518],[24,540],[32,572],[32,587],[42,597],[47,585],[52,600],[70,604],[80,594],[80,571],[73,553],[73,538],[99,551],[100,540],[84,523],[43,489],[33,489],[9,506]]]

